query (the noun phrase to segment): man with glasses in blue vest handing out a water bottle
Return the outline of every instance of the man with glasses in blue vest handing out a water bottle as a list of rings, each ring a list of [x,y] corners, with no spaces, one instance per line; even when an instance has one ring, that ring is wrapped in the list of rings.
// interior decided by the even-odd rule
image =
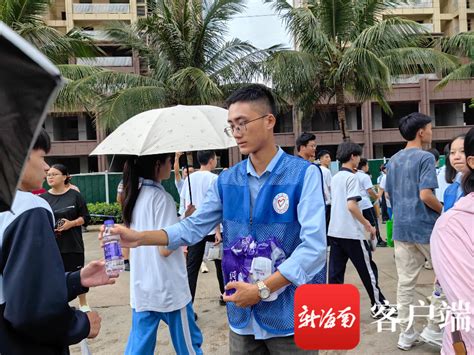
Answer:
[[[257,280],[237,278],[226,285],[227,292],[233,292],[224,296],[230,353],[303,353],[293,340],[295,290],[302,284],[323,283],[326,277],[321,174],[316,166],[275,145],[275,101],[268,88],[250,85],[237,90],[227,105],[226,133],[249,159],[221,173],[200,209],[179,224],[149,232],[117,226],[113,232],[121,235],[124,246],[168,245],[174,249],[199,242],[222,222],[225,277],[232,263],[235,267],[230,251],[249,236],[254,246],[278,246],[283,260],[279,258],[272,273],[263,272],[265,277]],[[246,265],[257,264],[257,258],[247,257],[243,258]],[[252,278],[254,282],[248,282]]]

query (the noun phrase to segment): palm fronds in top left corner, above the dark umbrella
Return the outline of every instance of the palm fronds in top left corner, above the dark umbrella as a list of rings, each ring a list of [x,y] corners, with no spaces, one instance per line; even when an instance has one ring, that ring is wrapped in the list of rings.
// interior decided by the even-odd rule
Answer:
[[[55,64],[69,57],[90,57],[99,53],[92,41],[78,29],[67,34],[49,27],[43,19],[51,0],[1,0],[0,21],[35,45]]]

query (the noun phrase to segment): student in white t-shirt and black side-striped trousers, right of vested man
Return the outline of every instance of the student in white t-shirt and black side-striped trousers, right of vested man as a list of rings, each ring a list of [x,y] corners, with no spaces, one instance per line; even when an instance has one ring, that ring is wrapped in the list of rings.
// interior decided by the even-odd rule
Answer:
[[[378,285],[377,265],[372,260],[371,246],[365,238],[365,232],[375,238],[376,230],[364,218],[358,205],[361,196],[354,169],[359,164],[361,154],[361,147],[352,142],[341,143],[337,148],[337,159],[342,163],[342,168],[331,182],[329,283],[344,283],[346,264],[350,259],[370,297],[371,316],[378,318],[384,312],[384,307],[380,305],[384,304],[385,297]]]

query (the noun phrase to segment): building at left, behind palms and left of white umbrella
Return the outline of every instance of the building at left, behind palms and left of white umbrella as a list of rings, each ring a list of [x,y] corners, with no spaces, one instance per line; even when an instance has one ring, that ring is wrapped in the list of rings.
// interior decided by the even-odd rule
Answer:
[[[67,33],[81,29],[93,38],[104,54],[97,58],[72,58],[72,64],[86,64],[126,73],[140,73],[140,60],[135,53],[121,49],[107,37],[105,29],[114,22],[133,23],[146,16],[145,0],[55,0],[46,23]],[[50,112],[45,128],[53,143],[50,163],[66,164],[72,173],[107,169],[106,157],[89,157],[103,139],[92,117],[86,112]]]

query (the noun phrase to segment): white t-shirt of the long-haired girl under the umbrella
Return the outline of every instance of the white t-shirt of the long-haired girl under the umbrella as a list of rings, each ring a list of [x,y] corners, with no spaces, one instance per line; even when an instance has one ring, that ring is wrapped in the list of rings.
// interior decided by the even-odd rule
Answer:
[[[163,186],[144,180],[132,213],[131,228],[159,230],[179,222],[176,204]],[[172,312],[191,302],[182,248],[167,257],[157,246],[130,249],[130,305],[137,312]]]

